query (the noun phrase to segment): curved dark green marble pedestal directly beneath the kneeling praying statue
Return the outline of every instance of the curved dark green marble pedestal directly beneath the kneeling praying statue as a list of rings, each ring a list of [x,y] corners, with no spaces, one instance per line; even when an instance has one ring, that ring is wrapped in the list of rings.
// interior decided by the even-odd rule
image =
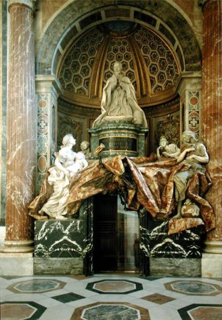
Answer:
[[[127,121],[112,121],[88,130],[91,135],[91,150],[94,159],[97,156],[93,151],[100,143],[105,145],[102,157],[125,155],[129,157],[145,156],[145,141],[148,129]]]

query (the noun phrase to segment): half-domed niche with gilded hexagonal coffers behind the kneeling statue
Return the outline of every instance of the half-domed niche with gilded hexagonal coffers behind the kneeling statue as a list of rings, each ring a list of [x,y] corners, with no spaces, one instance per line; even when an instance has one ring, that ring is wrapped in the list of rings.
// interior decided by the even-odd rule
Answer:
[[[155,31],[129,21],[110,21],[92,27],[69,46],[58,69],[64,89],[58,100],[58,145],[67,132],[78,144],[88,140],[87,129],[100,114],[102,90],[115,61],[131,80],[149,126],[147,153],[163,134],[180,142],[178,57]],[[79,149],[80,145],[76,145]]]

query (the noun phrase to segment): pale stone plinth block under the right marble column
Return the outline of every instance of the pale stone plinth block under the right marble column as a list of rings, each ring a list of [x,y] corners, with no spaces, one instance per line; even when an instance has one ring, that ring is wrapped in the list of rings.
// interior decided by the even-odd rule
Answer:
[[[202,277],[222,278],[222,254],[203,253],[201,269]]]

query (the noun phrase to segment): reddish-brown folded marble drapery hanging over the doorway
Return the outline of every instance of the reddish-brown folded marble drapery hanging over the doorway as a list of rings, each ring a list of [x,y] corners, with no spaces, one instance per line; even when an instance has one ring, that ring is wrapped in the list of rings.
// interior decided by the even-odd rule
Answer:
[[[120,193],[126,195],[129,209],[138,210],[142,205],[153,218],[169,219],[176,206],[174,175],[187,170],[189,165],[177,164],[173,158],[158,161],[156,159],[155,155],[149,158],[116,156],[104,158],[102,168],[98,160],[92,161],[87,168],[71,179],[67,202],[68,214],[75,214],[84,199],[118,189]],[[210,185],[211,179],[208,173],[193,174],[186,195],[199,205],[201,219],[169,220],[169,234],[202,224],[205,225],[206,231],[215,228],[213,209],[203,198]],[[40,194],[29,206],[29,214],[41,219],[40,216],[37,217],[37,212],[49,196],[50,191],[47,190],[47,178],[45,178]]]

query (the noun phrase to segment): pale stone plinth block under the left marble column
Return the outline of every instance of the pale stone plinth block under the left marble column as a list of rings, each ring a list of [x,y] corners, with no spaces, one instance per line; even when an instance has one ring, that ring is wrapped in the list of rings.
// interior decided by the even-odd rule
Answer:
[[[1,275],[33,275],[32,253],[0,253]]]

